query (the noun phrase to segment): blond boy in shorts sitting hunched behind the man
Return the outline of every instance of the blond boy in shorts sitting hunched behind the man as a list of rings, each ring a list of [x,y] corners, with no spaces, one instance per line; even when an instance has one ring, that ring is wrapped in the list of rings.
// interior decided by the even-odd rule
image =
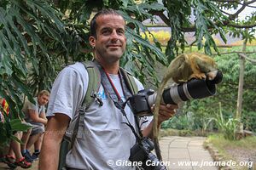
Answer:
[[[33,161],[38,158],[42,144],[44,126],[47,124],[45,116],[45,105],[49,101],[49,92],[42,90],[38,93],[38,97],[34,98],[35,104],[28,99],[25,100],[22,111],[25,114],[25,121],[32,125],[31,133],[24,133],[22,136],[21,153],[25,156],[26,161]],[[34,153],[31,156],[29,149],[34,144]]]

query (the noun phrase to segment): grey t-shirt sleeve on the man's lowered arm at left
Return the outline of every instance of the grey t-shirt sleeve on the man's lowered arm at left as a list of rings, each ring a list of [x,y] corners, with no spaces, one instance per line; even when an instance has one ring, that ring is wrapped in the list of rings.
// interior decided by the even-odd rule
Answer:
[[[70,65],[56,77],[49,97],[47,116],[62,113],[73,118],[84,99],[88,73],[83,64]]]

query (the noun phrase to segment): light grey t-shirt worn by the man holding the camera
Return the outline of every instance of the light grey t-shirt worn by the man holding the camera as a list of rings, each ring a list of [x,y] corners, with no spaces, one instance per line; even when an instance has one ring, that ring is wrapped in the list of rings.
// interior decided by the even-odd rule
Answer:
[[[110,75],[115,88],[124,99],[123,90],[117,75]],[[137,87],[143,89],[143,85],[136,78]],[[55,80],[49,98],[47,116],[62,113],[72,120],[77,116],[76,111],[81,105],[88,86],[88,73],[81,63],[69,65],[61,71]],[[79,133],[75,140],[73,150],[67,154],[67,167],[75,169],[134,169],[134,167],[122,167],[116,162],[127,161],[131,147],[136,139],[125,116],[114,106],[113,101],[105,94],[102,85],[98,96],[103,105],[93,103],[86,111],[84,117],[84,132]],[[125,106],[125,113],[135,126],[135,119],[129,106]],[[143,127],[147,127],[152,117],[143,118]],[[109,165],[109,160],[113,165]]]

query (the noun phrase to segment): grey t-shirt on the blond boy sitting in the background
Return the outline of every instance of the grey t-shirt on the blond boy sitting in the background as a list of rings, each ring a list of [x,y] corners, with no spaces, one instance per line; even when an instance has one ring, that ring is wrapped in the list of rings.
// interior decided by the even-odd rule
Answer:
[[[25,103],[23,105],[22,111],[25,114],[24,119],[25,119],[26,122],[33,122],[32,119],[30,118],[29,114],[28,114],[28,110],[34,110],[35,114],[38,114],[38,116],[41,113],[45,112],[44,105],[38,105],[38,98],[35,97],[34,100],[35,100],[36,105],[32,104],[32,102],[30,102],[27,98],[25,99]],[[33,122],[33,123],[38,123],[40,125],[43,124],[43,123],[40,123],[40,122]]]

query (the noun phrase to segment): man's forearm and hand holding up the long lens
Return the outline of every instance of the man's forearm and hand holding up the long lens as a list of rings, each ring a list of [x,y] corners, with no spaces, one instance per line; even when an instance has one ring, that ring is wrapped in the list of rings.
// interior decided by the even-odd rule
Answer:
[[[159,118],[158,118],[158,127],[160,127],[160,124],[175,114],[175,109],[177,109],[177,105],[160,105],[160,112],[159,112]],[[152,111],[154,110],[154,106],[152,108]],[[152,137],[152,128],[153,128],[153,122],[154,119],[148,124],[148,127],[145,127],[142,131],[144,137]]]

